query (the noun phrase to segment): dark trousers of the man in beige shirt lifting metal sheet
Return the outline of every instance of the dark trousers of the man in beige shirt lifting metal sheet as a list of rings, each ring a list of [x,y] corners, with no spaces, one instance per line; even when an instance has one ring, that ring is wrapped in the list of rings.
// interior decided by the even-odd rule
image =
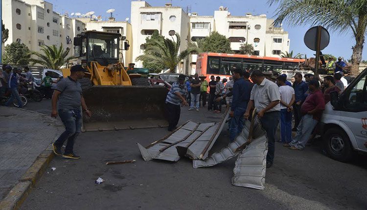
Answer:
[[[275,131],[279,124],[280,111],[265,112],[264,116],[260,118],[261,127],[266,131],[268,138],[268,154],[266,156],[267,162],[274,162],[275,155]]]

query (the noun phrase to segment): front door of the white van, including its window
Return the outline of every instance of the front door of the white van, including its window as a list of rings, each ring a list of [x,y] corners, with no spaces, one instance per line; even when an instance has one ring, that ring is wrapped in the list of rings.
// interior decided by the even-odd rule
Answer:
[[[367,70],[353,81],[343,94],[341,121],[354,134],[357,149],[367,151]]]

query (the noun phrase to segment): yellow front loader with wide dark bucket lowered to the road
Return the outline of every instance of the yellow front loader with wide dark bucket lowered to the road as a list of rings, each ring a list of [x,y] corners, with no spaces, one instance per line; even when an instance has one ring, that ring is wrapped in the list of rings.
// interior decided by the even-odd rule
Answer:
[[[120,41],[124,50],[129,44],[121,34],[85,31],[74,38],[75,54],[88,78],[79,82],[92,117],[83,116],[83,130],[118,130],[168,126],[164,102],[168,92],[162,86],[149,86],[146,78],[131,79],[119,61]],[[122,59],[123,61],[123,59]],[[70,75],[68,66],[63,76]],[[146,80],[133,86],[132,80]]]

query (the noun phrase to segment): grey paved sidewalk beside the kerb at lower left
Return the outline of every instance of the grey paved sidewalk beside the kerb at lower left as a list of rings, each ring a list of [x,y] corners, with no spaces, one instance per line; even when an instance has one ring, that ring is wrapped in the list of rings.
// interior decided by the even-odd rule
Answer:
[[[0,200],[63,128],[47,115],[0,106]]]

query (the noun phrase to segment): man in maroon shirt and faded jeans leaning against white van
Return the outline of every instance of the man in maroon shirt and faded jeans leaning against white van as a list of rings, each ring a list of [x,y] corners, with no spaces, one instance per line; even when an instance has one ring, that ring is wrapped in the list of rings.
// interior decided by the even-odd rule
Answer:
[[[323,94],[320,90],[320,83],[318,80],[311,80],[308,83],[310,95],[301,106],[303,114],[301,121],[297,127],[297,135],[289,143],[289,148],[294,150],[302,150],[310,138],[313,129],[320,121],[322,111],[325,109]]]

